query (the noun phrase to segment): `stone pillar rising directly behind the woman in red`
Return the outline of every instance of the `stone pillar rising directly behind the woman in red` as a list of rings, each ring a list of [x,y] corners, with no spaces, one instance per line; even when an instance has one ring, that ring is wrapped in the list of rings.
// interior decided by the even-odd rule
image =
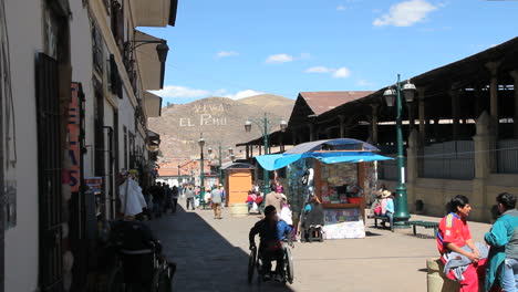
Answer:
[[[490,206],[486,196],[486,181],[495,163],[495,136],[491,133],[491,117],[486,111],[477,119],[477,135],[473,137],[475,144],[475,179],[473,180],[473,195],[470,200],[474,208],[474,219],[489,221]]]

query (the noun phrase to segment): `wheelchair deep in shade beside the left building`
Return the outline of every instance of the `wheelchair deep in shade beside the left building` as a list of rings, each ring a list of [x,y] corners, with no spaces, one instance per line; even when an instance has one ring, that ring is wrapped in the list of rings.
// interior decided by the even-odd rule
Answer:
[[[146,250],[117,250],[115,267],[107,279],[107,291],[172,292],[176,264],[167,262],[152,247]],[[138,273],[135,273],[135,265]]]

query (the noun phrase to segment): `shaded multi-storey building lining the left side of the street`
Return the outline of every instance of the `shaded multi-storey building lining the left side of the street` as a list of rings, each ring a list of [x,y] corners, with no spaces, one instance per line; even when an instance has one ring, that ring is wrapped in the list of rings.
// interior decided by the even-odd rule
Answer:
[[[147,91],[163,87],[167,44],[136,28],[174,25],[176,8],[0,1],[0,291],[94,291],[120,173],[155,177],[162,101]]]

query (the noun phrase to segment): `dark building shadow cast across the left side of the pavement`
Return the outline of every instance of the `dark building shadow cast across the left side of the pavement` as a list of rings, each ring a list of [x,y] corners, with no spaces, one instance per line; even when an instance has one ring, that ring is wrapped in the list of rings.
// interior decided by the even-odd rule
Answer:
[[[176,213],[149,221],[149,227],[168,260],[177,263],[174,291],[293,291],[279,282],[258,285],[257,278],[249,285],[248,253],[179,205]],[[248,238],[248,230],[242,233]]]

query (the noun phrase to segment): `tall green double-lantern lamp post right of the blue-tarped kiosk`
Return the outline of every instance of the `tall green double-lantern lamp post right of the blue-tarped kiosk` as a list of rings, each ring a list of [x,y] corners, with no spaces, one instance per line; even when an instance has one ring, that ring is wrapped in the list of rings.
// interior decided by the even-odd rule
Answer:
[[[396,101],[396,134],[397,134],[397,188],[396,188],[396,201],[394,212],[394,227],[404,228],[407,226],[407,221],[411,218],[408,213],[408,197],[405,185],[405,157],[403,153],[403,101],[401,98],[401,92],[405,95],[405,101],[412,103],[416,92],[415,85],[410,81],[401,87],[400,74],[397,74],[396,88],[388,87],[383,96],[385,97],[386,105],[388,107],[394,106],[394,100]]]

